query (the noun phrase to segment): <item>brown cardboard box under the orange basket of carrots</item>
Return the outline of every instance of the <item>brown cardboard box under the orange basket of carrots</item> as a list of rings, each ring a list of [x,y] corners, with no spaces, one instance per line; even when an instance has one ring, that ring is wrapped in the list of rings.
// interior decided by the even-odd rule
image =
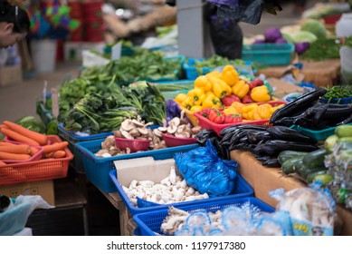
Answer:
[[[55,205],[53,180],[1,185],[0,193],[11,198],[19,195],[40,195],[43,197],[43,200],[52,206]]]

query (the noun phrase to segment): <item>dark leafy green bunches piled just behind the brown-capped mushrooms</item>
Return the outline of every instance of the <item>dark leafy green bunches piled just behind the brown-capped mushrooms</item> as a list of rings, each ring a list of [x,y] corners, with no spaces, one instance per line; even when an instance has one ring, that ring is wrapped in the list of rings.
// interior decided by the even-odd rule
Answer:
[[[161,124],[166,119],[166,102],[157,87],[146,85],[115,87],[115,93],[103,97],[87,93],[71,110],[62,115],[63,127],[71,132],[112,132],[137,115],[147,122]]]

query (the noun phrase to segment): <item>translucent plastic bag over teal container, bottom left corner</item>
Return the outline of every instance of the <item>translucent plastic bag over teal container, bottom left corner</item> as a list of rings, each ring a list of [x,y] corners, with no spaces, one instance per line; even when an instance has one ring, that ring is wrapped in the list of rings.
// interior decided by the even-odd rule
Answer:
[[[24,229],[28,217],[36,208],[51,209],[42,196],[23,196],[14,199],[13,204],[0,213],[0,236],[12,236]]]

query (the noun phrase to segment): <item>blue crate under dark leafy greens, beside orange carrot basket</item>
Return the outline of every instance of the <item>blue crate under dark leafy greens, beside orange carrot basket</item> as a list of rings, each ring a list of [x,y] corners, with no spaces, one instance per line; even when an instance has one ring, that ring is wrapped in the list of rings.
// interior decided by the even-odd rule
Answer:
[[[101,138],[106,138],[109,135],[112,135],[112,132],[103,132],[103,133],[98,133],[98,134],[92,134],[92,135],[87,135],[87,136],[81,136],[77,135],[74,132],[69,132],[66,131],[62,124],[59,125],[59,136],[62,138],[62,141],[67,141],[69,142],[69,149],[73,153],[73,160],[70,162],[71,167],[75,169],[75,171],[84,173],[84,165],[82,161],[82,153],[79,149],[76,147],[77,142],[87,142],[87,141],[92,141],[92,140],[97,140]]]

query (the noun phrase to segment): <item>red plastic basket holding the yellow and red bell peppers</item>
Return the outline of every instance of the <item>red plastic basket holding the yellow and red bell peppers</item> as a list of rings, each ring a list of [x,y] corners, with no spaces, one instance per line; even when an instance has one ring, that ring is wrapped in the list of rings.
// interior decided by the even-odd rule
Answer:
[[[281,101],[271,101],[267,102],[270,103],[271,106],[276,106],[280,104],[284,104],[285,102]],[[259,103],[262,104],[262,103]],[[233,125],[241,125],[241,124],[253,124],[253,125],[269,125],[269,119],[266,120],[255,120],[255,121],[245,121],[245,122],[238,122],[238,123],[215,123],[201,115],[199,112],[194,113],[195,117],[198,119],[199,125],[202,127],[202,129],[208,129],[208,130],[213,130],[216,132],[218,135],[220,134],[221,131],[224,130],[224,128],[227,128],[229,126]]]

